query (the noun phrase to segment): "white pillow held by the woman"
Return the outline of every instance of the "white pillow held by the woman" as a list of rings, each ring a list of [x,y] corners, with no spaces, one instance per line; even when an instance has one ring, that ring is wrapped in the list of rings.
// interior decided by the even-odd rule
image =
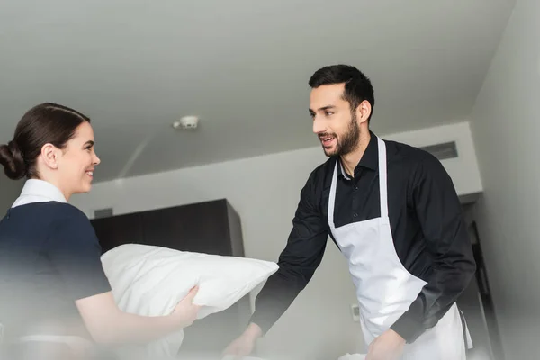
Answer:
[[[145,316],[168,315],[195,286],[198,319],[224,311],[274,274],[273,262],[125,244],[102,256],[103,269],[122,311]],[[148,356],[175,356],[184,331],[148,344]],[[211,340],[211,339],[209,339]]]

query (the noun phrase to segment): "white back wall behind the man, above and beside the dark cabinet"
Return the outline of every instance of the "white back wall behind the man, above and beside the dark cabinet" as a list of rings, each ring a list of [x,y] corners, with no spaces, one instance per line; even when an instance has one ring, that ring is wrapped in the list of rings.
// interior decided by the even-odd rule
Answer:
[[[460,157],[443,163],[457,192],[482,191],[468,123],[384,138],[418,146],[455,140]],[[73,203],[92,217],[94,210],[107,207],[121,214],[227,198],[242,220],[246,256],[275,261],[291,230],[300,190],[311,170],[325,160],[318,147],[140,176],[95,184],[92,193],[75,197]],[[350,315],[355,302],[347,263],[329,241],[311,284],[268,333],[261,350],[299,360],[337,359],[361,350],[359,325]]]

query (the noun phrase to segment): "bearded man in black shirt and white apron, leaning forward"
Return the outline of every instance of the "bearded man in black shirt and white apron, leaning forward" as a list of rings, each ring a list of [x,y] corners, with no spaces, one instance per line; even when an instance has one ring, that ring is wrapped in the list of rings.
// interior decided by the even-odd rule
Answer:
[[[225,353],[252,352],[308,284],[330,236],[356,285],[367,360],[464,360],[455,301],[476,266],[450,176],[429,153],[369,130],[374,90],[355,67],[322,67],[310,85],[313,132],[329,160],[303,187],[279,271]]]

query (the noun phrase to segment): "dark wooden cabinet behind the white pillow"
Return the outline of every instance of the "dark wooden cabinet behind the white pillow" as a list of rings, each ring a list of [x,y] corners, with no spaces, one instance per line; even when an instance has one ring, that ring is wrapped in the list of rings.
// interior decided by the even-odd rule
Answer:
[[[182,251],[244,257],[241,221],[225,199],[92,220],[103,252],[136,243]],[[184,330],[181,353],[219,355],[246,327],[248,296]]]

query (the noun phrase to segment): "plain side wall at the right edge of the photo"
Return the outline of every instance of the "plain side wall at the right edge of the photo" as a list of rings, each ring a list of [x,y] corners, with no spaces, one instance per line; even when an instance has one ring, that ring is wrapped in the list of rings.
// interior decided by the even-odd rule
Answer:
[[[540,1],[518,0],[471,117],[485,195],[479,232],[507,359],[540,330]]]

